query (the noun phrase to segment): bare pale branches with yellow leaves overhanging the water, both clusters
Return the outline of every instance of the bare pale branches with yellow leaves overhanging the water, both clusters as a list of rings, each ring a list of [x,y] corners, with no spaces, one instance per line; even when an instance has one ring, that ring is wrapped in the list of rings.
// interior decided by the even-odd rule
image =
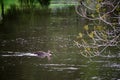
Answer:
[[[83,26],[84,31],[80,32],[77,40],[74,41],[80,49],[81,55],[93,57],[100,55],[108,47],[115,46],[119,48],[119,5],[120,1],[117,0],[79,1],[79,4],[75,7],[77,14],[94,23],[92,26]],[[87,37],[84,35],[87,35]]]

